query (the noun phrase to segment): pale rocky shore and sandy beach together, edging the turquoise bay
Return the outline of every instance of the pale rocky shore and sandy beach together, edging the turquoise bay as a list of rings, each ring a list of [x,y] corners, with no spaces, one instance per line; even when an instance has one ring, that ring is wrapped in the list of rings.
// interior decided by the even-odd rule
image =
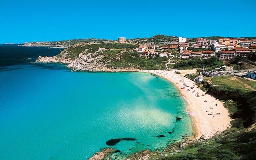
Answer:
[[[228,110],[224,108],[223,102],[206,94],[206,92],[195,85],[195,82],[184,77],[185,74],[196,72],[195,69],[177,70],[181,72],[181,74],[175,74],[175,70],[140,70],[136,68],[114,69],[99,64],[80,64],[80,62],[76,62],[75,60],[71,60],[71,62],[70,60],[57,60],[55,57],[39,57],[35,62],[66,64],[66,67],[72,69],[73,72],[145,72],[155,74],[174,84],[186,102],[186,112],[194,124],[193,130],[196,134],[196,139],[209,139],[231,127],[231,118],[229,117]],[[183,83],[189,87],[181,89],[181,87],[184,86]],[[191,90],[195,90],[194,93],[192,91],[187,91],[190,87],[193,87]],[[196,93],[198,93],[198,96],[195,95]],[[216,104],[217,106],[215,106]]]

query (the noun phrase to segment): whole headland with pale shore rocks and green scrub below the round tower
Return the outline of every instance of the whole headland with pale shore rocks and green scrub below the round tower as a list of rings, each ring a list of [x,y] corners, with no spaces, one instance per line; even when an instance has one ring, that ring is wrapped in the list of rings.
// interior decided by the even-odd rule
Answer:
[[[39,56],[36,62],[62,63],[73,70],[83,71],[136,71],[165,69],[167,58],[147,60],[139,57],[136,44],[85,43],[69,46],[53,57]]]

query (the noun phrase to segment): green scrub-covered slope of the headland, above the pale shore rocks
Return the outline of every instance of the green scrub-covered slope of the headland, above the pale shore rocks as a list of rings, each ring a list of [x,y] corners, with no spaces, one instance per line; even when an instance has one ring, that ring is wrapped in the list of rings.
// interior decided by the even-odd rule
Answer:
[[[79,58],[80,53],[84,55],[94,53],[92,58],[97,59],[99,64],[106,64],[108,68],[166,69],[168,58],[141,58],[140,53],[134,51],[136,47],[135,44],[120,43],[80,44],[65,49],[56,57],[76,59]],[[98,52],[99,48],[107,50]]]

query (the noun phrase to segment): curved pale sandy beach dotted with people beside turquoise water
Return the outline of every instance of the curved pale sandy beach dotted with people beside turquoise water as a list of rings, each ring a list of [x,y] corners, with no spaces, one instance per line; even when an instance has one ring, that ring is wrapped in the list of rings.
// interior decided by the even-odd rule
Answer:
[[[192,80],[184,77],[185,74],[194,73],[196,70],[178,71],[181,74],[175,74],[174,70],[142,70],[142,72],[149,72],[166,78],[178,88],[180,94],[187,102],[187,111],[194,122],[194,132],[196,133],[196,138],[200,138],[200,136],[204,134],[208,139],[215,134],[230,128],[231,118],[229,117],[228,110],[224,108],[223,102],[220,102],[208,94],[202,96],[206,92],[200,90],[200,88],[197,88],[197,86],[194,86],[195,83]],[[181,89],[184,84],[186,84],[188,87]],[[190,89],[190,87],[193,86],[194,88]],[[187,91],[188,89],[190,89],[190,91]],[[217,106],[215,106],[216,104]]]

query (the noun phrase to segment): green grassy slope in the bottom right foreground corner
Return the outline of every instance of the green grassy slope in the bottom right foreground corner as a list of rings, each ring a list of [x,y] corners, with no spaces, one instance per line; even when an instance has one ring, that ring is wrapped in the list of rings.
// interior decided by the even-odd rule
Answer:
[[[209,140],[174,148],[178,153],[162,160],[254,160],[256,156],[256,129],[225,130]],[[157,156],[156,156],[157,157]]]

